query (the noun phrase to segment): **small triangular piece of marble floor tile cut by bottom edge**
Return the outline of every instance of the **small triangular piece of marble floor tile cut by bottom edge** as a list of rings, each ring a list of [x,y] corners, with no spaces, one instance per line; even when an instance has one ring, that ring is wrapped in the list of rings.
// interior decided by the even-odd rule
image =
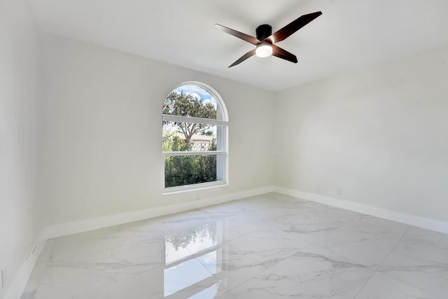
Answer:
[[[356,299],[431,299],[433,296],[403,284],[401,281],[376,272],[365,284]]]

